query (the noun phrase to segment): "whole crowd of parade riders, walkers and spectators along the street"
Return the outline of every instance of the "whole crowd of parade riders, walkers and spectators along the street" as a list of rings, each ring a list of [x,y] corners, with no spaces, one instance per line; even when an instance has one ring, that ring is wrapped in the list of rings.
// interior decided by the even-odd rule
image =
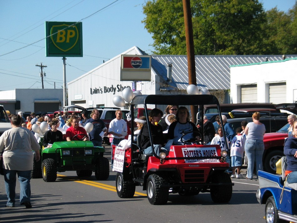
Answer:
[[[20,182],[20,204],[31,208],[30,201],[30,178],[33,169],[33,153],[36,151],[36,161],[40,159],[40,144],[49,148],[54,142],[72,140],[92,141],[94,146],[102,146],[104,136],[110,138],[111,145],[118,145],[128,134],[127,122],[122,119],[123,113],[120,109],[115,111],[116,118],[113,119],[107,129],[105,123],[99,118],[98,109],[93,109],[90,118],[86,111],[68,116],[67,113],[58,112],[56,117],[39,117],[34,112],[23,117],[23,112],[18,115],[11,115],[10,122],[12,129],[7,130],[0,137],[0,159],[3,159],[5,189],[8,197],[7,207],[15,206],[15,184],[16,174]],[[165,114],[158,108],[150,110],[149,117],[136,118],[137,129],[134,135],[140,136],[140,147],[145,154],[157,154],[164,152],[169,154],[171,145],[182,145],[184,142],[199,144],[217,144],[221,150],[227,150],[226,162],[232,167],[231,178],[243,178],[240,173],[242,162],[248,164],[246,179],[253,178],[254,165],[256,166],[256,177],[258,170],[262,170],[262,156],[264,152],[263,136],[266,131],[263,123],[260,122],[260,113],[254,112],[253,122],[241,122],[241,127],[236,131],[227,122],[227,117],[222,115],[216,117],[214,123],[204,116],[204,141],[201,140],[201,126],[190,121],[189,110],[184,106],[168,105]],[[27,123],[26,123],[27,122]],[[44,133],[33,132],[34,124],[41,125],[47,122],[48,131]],[[93,130],[86,132],[84,126],[87,123],[93,124]],[[288,139],[285,142],[284,154],[287,156],[288,169],[286,175],[290,176],[290,182],[297,182],[297,121],[295,115],[288,116]],[[43,124],[44,125],[44,124]],[[149,131],[150,129],[150,131]],[[223,129],[226,134],[224,137]],[[151,145],[150,133],[153,140]],[[17,133],[17,134],[16,134]],[[109,134],[108,134],[109,133]],[[17,137],[14,137],[17,136]],[[42,137],[43,136],[43,137]],[[63,138],[63,136],[65,136]],[[40,139],[43,139],[40,142]],[[136,137],[134,138],[136,141]],[[22,148],[19,145],[22,145]],[[244,158],[245,153],[245,159]],[[22,157],[22,162],[18,162]],[[237,170],[237,171],[236,171]],[[293,172],[293,173],[292,173]]]

